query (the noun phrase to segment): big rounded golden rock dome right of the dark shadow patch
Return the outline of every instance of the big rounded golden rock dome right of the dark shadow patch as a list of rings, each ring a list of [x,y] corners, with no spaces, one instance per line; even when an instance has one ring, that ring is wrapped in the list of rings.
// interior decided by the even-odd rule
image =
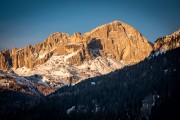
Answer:
[[[151,45],[141,33],[120,21],[102,25],[85,33],[85,36],[94,39],[94,44],[99,44],[104,53],[128,63],[137,63],[152,51]]]

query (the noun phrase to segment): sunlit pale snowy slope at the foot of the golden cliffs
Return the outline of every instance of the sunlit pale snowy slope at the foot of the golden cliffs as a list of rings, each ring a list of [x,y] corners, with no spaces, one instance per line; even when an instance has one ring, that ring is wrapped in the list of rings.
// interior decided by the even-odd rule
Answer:
[[[22,67],[13,69],[21,76],[42,76],[42,82],[55,86],[56,88],[75,84],[90,77],[107,74],[125,65],[124,62],[115,60],[111,55],[107,58],[101,56],[84,62],[81,65],[73,65],[67,59],[78,53],[74,52],[66,56],[52,56],[46,63],[38,65],[33,69]]]

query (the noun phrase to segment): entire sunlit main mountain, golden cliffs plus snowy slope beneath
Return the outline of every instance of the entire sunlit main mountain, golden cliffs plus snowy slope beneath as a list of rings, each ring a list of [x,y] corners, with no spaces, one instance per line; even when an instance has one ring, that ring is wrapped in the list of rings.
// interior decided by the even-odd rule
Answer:
[[[51,34],[44,42],[0,52],[0,69],[19,76],[41,76],[54,86],[76,84],[138,63],[153,50],[147,39],[132,26],[114,21],[90,32]]]

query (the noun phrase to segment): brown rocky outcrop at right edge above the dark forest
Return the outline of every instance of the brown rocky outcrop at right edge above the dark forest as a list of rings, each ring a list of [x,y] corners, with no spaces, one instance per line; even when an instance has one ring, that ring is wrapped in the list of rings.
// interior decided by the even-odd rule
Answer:
[[[162,38],[158,38],[154,43],[154,51],[167,51],[177,47],[180,47],[180,30]]]

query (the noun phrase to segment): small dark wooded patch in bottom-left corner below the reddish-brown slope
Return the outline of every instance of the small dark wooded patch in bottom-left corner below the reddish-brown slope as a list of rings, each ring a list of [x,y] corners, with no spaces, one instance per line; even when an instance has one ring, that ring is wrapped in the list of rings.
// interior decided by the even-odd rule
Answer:
[[[26,108],[40,101],[39,96],[21,93],[13,90],[0,89],[0,119],[5,119],[16,113],[18,109]]]

